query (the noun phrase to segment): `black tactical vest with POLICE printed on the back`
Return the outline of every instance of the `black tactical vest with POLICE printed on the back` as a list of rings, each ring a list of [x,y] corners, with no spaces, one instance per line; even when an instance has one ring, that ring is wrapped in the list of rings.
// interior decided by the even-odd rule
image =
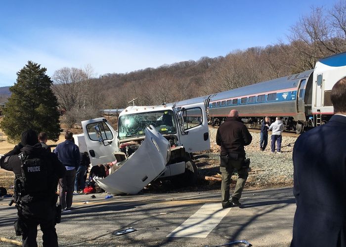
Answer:
[[[18,155],[22,165],[22,177],[14,182],[15,202],[30,203],[48,196],[48,167],[43,157]]]

